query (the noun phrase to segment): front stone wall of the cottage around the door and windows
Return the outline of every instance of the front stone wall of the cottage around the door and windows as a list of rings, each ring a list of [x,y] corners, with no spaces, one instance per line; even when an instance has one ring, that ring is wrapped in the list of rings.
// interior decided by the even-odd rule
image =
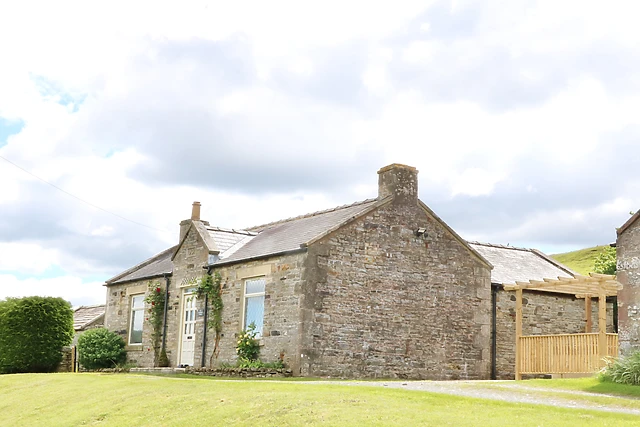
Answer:
[[[166,351],[171,366],[183,363],[180,359],[180,340],[183,327],[182,312],[185,294],[189,294],[205,274],[208,264],[208,250],[195,228],[188,233],[183,245],[174,258],[174,272],[170,277],[169,302],[167,307]],[[223,334],[220,352],[214,364],[234,363],[237,360],[235,346],[242,328],[242,304],[244,279],[265,276],[264,336],[261,339],[260,358],[266,362],[284,361],[287,366],[299,371],[300,312],[298,310],[301,289],[301,275],[305,253],[297,253],[266,260],[221,267],[223,276]],[[110,285],[107,288],[107,308],[105,326],[120,334],[128,343],[131,318],[131,296],[145,293],[149,283],[165,288],[164,278],[140,280]],[[204,300],[196,300],[195,354],[193,366],[209,365],[214,348],[215,333],[207,331],[205,360],[202,361],[205,316]],[[148,307],[145,307],[147,309]],[[146,314],[146,312],[145,312]],[[127,345],[130,362],[141,367],[154,366],[152,328],[145,317],[142,345]]]

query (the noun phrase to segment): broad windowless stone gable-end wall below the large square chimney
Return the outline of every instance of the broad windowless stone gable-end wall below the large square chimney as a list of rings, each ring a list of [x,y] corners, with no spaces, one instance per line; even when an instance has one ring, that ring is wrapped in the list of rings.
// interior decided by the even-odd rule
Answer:
[[[409,196],[310,246],[302,375],[489,378],[490,269]]]

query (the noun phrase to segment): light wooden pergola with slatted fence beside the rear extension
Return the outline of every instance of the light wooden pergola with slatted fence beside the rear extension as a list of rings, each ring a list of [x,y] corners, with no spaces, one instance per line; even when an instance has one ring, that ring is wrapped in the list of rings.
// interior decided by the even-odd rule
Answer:
[[[530,280],[504,285],[516,292],[516,380],[522,374],[595,372],[606,357],[618,355],[618,334],[607,334],[607,296],[622,289],[616,276],[590,273],[573,278]],[[575,295],[585,300],[586,328],[583,334],[522,335],[522,291]],[[598,332],[591,332],[591,300],[598,298]]]

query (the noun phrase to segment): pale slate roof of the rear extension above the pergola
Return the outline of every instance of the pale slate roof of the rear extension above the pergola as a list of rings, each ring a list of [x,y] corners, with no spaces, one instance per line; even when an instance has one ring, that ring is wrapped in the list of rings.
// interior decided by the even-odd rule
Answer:
[[[574,277],[575,272],[536,249],[469,242],[469,246],[493,264],[491,283]]]

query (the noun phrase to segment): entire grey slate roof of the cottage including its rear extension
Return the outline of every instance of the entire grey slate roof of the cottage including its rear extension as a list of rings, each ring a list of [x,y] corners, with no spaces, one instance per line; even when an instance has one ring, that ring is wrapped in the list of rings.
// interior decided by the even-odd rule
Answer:
[[[215,246],[217,256],[211,266],[225,265],[302,250],[307,244],[337,229],[345,222],[384,204],[386,199],[368,199],[351,205],[263,224],[247,230],[197,224],[198,231]],[[435,215],[435,214],[434,214]],[[451,230],[455,234],[454,231]],[[457,236],[457,235],[456,235]],[[483,260],[493,266],[492,283],[573,277],[576,273],[535,249],[515,248],[478,242],[465,242]],[[107,281],[107,285],[159,277],[173,272],[177,246],[173,246]]]

